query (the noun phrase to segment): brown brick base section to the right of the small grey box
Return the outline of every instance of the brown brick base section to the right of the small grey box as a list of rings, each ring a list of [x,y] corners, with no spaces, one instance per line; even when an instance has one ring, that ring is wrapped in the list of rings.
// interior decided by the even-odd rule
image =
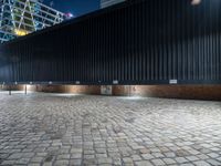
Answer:
[[[187,100],[221,101],[221,85],[134,85],[115,86],[116,95],[140,95]]]

